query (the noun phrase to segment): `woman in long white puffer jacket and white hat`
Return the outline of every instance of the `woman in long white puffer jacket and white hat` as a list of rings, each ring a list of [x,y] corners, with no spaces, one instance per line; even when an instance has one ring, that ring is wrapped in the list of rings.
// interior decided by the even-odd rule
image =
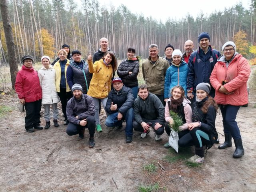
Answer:
[[[44,105],[44,119],[46,125],[44,129],[50,128],[50,105],[52,104],[53,110],[53,123],[54,127],[58,127],[58,108],[57,104],[60,102],[55,84],[55,70],[50,65],[50,58],[42,56],[41,62],[43,67],[38,71],[38,77],[42,88],[42,104]]]

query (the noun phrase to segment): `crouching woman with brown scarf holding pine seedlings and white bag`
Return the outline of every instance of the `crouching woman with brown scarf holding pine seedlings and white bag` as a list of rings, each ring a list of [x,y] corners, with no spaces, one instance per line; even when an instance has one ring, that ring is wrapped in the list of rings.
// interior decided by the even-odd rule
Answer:
[[[189,133],[188,125],[192,122],[192,109],[190,107],[191,102],[185,98],[185,90],[182,86],[174,86],[170,92],[171,98],[166,102],[164,119],[166,120],[165,131],[170,136],[171,130],[170,125],[173,124],[173,119],[170,116],[170,110],[178,113],[182,118],[183,125],[179,127],[180,132],[178,132],[179,138],[182,138],[185,134]],[[169,122],[169,123],[168,123]],[[191,144],[186,144],[186,146],[191,146]],[[169,142],[164,144],[165,148],[170,148]]]

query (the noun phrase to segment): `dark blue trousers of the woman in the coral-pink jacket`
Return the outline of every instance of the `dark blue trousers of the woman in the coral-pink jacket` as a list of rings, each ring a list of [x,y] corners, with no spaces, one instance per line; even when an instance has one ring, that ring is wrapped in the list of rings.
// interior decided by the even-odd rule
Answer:
[[[236,122],[236,114],[240,106],[220,105],[224,133],[231,134],[233,139],[240,139],[241,134]]]

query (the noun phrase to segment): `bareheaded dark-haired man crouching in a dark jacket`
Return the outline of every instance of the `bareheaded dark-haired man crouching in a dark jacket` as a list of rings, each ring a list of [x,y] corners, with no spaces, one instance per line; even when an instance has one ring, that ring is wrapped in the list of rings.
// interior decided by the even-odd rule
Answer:
[[[160,99],[148,92],[148,86],[139,86],[139,97],[134,100],[134,130],[142,132],[141,138],[149,133],[150,126],[155,131],[155,140],[160,141],[164,133],[164,106]]]

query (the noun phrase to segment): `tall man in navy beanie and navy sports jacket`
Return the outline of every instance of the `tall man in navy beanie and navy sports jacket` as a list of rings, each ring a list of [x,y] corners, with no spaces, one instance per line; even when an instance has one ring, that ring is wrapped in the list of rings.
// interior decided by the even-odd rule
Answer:
[[[220,56],[220,52],[212,49],[212,46],[209,45],[210,36],[208,33],[202,32],[198,36],[198,43],[200,45],[198,50],[193,52],[188,60],[187,96],[193,101],[196,98],[196,86],[202,82],[210,84],[212,70]],[[214,88],[211,88],[210,96],[214,98]]]

